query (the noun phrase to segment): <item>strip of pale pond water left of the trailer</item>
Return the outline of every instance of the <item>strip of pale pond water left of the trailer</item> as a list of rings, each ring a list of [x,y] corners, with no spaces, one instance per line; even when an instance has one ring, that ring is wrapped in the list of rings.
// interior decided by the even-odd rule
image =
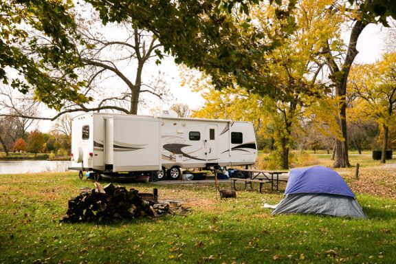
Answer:
[[[66,171],[70,163],[69,161],[48,160],[0,160],[0,174]]]

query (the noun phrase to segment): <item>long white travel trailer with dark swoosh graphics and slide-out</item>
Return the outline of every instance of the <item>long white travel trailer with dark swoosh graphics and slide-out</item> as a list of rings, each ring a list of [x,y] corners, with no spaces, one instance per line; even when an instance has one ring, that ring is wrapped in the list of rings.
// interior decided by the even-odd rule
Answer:
[[[181,168],[254,164],[250,122],[85,113],[72,120],[72,166],[101,173],[178,179]]]

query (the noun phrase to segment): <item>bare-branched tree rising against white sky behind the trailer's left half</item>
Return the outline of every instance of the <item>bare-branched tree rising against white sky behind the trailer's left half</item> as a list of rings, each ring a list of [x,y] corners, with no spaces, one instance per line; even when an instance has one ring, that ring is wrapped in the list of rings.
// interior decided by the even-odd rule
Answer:
[[[82,6],[87,8],[86,4]],[[131,114],[146,103],[144,94],[165,100],[169,90],[164,72],[152,70],[154,62],[159,63],[157,54],[161,49],[155,36],[133,28],[127,21],[104,28],[98,14],[91,8],[88,12],[90,17],[84,13],[76,16],[78,32],[87,43],[80,48],[85,64],[82,74],[87,80],[84,94],[96,100],[98,110],[113,107],[115,111]],[[145,69],[147,65],[150,70]],[[76,107],[81,106],[72,106]]]

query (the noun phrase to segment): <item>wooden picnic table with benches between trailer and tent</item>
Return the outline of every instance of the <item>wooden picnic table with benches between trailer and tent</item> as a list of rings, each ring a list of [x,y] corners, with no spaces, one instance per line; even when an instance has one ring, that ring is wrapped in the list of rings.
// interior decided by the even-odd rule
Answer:
[[[243,169],[239,170],[245,173],[248,173],[249,178],[241,179],[241,178],[230,178],[234,182],[234,190],[236,190],[235,183],[236,181],[244,181],[245,189],[250,184],[250,188],[252,188],[252,183],[256,182],[260,184],[260,192],[263,188],[263,184],[271,183],[271,192],[276,187],[276,190],[279,190],[279,181],[287,181],[287,179],[279,179],[279,175],[284,173],[289,173],[284,170],[254,170],[254,169]]]

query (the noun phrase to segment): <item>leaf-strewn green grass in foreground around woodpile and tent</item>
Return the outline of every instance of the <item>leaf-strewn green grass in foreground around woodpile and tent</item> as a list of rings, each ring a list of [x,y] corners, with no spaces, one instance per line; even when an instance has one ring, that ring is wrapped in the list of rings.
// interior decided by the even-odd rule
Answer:
[[[0,263],[394,262],[395,199],[359,194],[367,220],[273,217],[261,206],[280,201],[281,192],[219,200],[211,184],[155,186],[160,199],[182,199],[190,214],[60,224],[67,200],[83,186],[93,184],[76,173],[0,175]]]

